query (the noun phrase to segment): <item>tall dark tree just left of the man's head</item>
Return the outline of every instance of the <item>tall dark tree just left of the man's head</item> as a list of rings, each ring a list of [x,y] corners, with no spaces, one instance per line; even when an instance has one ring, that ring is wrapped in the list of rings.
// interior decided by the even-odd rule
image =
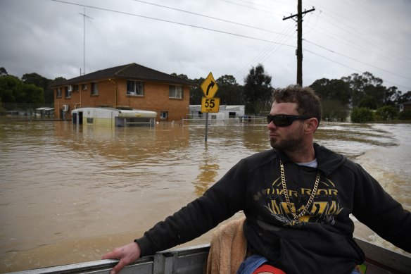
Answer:
[[[259,115],[270,111],[272,86],[271,76],[265,74],[264,67],[258,64],[252,67],[244,79],[246,113]]]

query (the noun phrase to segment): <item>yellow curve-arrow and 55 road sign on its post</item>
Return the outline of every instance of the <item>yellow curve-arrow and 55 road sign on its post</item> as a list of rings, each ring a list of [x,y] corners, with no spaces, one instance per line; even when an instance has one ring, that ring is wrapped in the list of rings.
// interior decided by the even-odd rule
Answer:
[[[212,73],[209,73],[207,78],[200,85],[201,90],[205,97],[201,99],[201,112],[205,113],[205,138],[204,142],[207,142],[208,133],[208,113],[217,113],[220,111],[220,98],[214,98],[215,93],[218,90],[218,86],[215,83]]]

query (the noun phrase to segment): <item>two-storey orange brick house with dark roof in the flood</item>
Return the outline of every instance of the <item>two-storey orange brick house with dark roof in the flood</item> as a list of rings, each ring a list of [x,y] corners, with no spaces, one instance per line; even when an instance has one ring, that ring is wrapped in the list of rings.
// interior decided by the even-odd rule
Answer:
[[[80,107],[110,106],[156,111],[156,120],[181,120],[189,113],[189,80],[130,63],[58,82],[54,113],[70,120]]]

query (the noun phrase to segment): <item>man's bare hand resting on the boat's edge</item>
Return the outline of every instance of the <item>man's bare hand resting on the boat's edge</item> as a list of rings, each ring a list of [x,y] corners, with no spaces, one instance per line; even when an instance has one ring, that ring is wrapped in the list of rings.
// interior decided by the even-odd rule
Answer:
[[[117,247],[113,251],[104,255],[101,259],[118,259],[120,260],[118,264],[111,270],[110,274],[117,274],[133,261],[140,258],[141,250],[137,242],[132,242],[131,244],[126,244],[122,247]]]

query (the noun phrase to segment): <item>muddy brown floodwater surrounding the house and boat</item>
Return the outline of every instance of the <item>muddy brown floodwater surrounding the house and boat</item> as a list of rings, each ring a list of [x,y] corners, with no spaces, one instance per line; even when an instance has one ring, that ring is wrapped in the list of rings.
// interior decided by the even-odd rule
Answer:
[[[263,120],[214,122],[204,137],[203,121],[0,121],[0,273],[99,260],[199,197],[241,158],[270,149]],[[411,209],[411,124],[322,123],[315,139]],[[396,249],[363,225],[355,235]],[[186,245],[209,241],[210,232]]]

